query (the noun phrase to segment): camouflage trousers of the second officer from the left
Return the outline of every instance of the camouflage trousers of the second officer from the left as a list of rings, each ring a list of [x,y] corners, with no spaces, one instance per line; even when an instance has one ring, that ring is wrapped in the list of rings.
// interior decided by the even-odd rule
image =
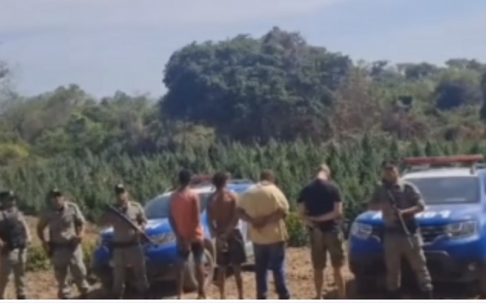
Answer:
[[[89,292],[89,284],[86,279],[86,265],[83,259],[80,246],[76,247],[74,251],[67,248],[54,249],[51,260],[54,267],[54,276],[58,283],[59,299],[66,299],[71,294],[70,278],[72,278],[82,295],[86,295]]]

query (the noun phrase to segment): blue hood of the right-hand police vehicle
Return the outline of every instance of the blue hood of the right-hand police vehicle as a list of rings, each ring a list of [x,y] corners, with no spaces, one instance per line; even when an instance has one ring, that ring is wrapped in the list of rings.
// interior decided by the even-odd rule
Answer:
[[[481,205],[428,205],[426,210],[415,217],[419,225],[442,225],[468,220],[476,220],[483,213]],[[357,216],[357,222],[371,225],[381,225],[382,212],[364,212]]]

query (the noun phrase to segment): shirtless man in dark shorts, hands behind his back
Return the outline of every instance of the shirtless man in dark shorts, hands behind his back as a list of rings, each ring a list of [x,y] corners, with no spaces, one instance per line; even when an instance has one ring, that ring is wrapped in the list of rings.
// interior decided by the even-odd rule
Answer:
[[[226,188],[228,175],[218,172],[212,177],[216,192],[208,203],[208,222],[212,238],[216,238],[218,286],[220,300],[225,300],[226,271],[232,266],[239,300],[243,299],[241,265],[246,262],[243,235],[238,229],[239,216],[236,212],[238,197]]]

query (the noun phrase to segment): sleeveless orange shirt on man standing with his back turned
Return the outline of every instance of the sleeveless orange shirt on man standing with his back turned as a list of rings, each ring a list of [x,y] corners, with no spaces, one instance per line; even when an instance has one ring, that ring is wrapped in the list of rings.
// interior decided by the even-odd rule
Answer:
[[[192,190],[174,192],[170,199],[170,214],[180,236],[188,241],[203,240],[203,225],[197,205],[197,194]]]

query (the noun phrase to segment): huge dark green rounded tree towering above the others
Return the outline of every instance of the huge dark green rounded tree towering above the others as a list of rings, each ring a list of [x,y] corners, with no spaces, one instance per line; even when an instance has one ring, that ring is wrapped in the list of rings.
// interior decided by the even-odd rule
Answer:
[[[166,66],[162,111],[233,139],[311,136],[350,67],[347,56],[277,27],[259,39],[192,43]]]

